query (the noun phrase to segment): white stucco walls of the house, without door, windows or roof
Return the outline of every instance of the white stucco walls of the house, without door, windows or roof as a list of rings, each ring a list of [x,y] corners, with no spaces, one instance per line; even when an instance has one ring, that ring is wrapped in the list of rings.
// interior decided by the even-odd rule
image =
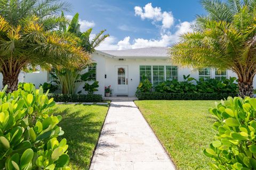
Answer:
[[[172,65],[169,60],[164,58],[153,59],[153,58],[125,58],[124,61],[119,61],[118,58],[112,58],[102,54],[94,53],[92,54],[92,60],[97,63],[96,66],[96,77],[99,81],[99,91],[96,91],[95,94],[105,95],[105,86],[111,86],[113,89],[113,96],[116,95],[117,91],[117,70],[116,66],[127,66],[127,80],[128,80],[128,94],[129,96],[134,96],[135,91],[137,90],[138,84],[140,82],[140,65]],[[82,73],[87,72],[87,69],[82,71]],[[105,78],[106,74],[106,78]],[[193,68],[188,67],[178,67],[178,80],[183,81],[183,75],[190,74],[190,77],[198,79],[198,71]],[[20,82],[31,82],[34,83],[36,88],[39,87],[39,84],[47,82],[47,72],[39,71],[34,73],[21,73],[19,75]],[[214,70],[211,70],[211,77],[214,78]],[[236,74],[232,71],[227,72],[227,77],[236,77]],[[0,74],[0,88],[2,89],[2,74]],[[84,82],[81,83],[77,91],[82,91]],[[256,78],[254,78],[254,88],[256,87]]]

